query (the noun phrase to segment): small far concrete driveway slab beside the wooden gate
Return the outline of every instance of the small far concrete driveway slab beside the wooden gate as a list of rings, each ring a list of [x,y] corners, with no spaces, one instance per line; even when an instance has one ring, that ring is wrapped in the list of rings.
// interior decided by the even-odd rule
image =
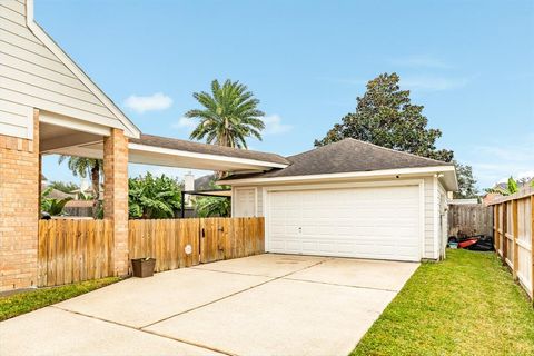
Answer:
[[[329,257],[264,254],[195,266],[195,269],[281,277],[325,261]]]

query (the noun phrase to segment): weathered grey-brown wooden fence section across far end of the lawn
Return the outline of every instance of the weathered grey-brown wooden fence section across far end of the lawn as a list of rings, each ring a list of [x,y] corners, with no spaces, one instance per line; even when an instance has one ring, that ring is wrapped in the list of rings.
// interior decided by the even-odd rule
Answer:
[[[449,204],[448,236],[493,236],[493,209],[482,204]]]

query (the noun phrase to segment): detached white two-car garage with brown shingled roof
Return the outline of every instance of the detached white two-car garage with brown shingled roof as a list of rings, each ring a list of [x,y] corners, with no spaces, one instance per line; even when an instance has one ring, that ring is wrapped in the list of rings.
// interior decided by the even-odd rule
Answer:
[[[389,260],[439,259],[446,245],[452,164],[355,139],[241,174],[234,216],[265,216],[266,251]]]

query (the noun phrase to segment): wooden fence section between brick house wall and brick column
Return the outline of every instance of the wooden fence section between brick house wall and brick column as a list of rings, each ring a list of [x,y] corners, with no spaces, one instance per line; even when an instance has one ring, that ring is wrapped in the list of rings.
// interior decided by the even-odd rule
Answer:
[[[38,286],[113,275],[109,220],[39,220]]]

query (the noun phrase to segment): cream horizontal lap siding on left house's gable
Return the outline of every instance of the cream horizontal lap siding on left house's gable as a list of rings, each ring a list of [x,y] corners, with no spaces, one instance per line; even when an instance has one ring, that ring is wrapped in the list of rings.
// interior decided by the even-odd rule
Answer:
[[[123,128],[108,107],[30,31],[26,24],[26,1],[0,2],[0,105],[3,135],[29,137],[31,128],[20,112],[33,107]]]

